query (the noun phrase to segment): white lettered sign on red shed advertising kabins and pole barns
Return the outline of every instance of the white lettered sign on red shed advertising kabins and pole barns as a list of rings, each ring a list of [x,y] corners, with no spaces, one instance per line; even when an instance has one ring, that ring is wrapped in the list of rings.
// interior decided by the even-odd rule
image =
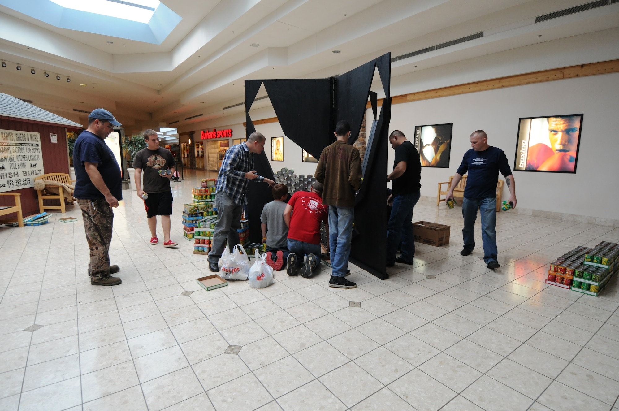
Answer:
[[[0,193],[34,187],[45,174],[38,132],[0,130]]]

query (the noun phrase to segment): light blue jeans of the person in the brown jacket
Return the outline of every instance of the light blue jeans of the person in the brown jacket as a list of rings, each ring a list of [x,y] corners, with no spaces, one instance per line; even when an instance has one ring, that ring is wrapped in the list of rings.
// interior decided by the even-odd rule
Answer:
[[[331,275],[344,277],[348,269],[352,223],[355,218],[353,207],[329,205],[329,248],[331,249]]]

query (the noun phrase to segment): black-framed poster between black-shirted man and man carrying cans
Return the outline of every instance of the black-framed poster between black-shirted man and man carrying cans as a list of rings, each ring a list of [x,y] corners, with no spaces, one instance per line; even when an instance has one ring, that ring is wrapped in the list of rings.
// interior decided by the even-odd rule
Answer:
[[[454,123],[415,126],[415,149],[422,167],[449,168]]]

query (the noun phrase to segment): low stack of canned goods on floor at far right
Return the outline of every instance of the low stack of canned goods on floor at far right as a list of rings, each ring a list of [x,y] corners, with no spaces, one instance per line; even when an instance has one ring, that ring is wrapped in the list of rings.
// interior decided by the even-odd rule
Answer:
[[[619,244],[577,247],[550,263],[546,283],[597,296],[617,272]]]

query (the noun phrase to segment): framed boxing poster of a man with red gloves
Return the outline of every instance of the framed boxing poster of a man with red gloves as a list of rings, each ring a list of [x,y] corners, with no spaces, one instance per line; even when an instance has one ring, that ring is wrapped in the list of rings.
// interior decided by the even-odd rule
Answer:
[[[519,119],[514,170],[576,173],[582,116]]]

